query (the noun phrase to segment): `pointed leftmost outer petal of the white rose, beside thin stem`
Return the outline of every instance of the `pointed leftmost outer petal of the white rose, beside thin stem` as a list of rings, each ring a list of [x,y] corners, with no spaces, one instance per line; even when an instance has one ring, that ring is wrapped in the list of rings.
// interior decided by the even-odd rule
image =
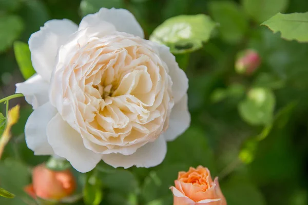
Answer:
[[[24,81],[16,84],[16,93],[23,93],[27,102],[32,105],[33,109],[44,105],[48,102],[49,85],[41,75],[34,74]]]

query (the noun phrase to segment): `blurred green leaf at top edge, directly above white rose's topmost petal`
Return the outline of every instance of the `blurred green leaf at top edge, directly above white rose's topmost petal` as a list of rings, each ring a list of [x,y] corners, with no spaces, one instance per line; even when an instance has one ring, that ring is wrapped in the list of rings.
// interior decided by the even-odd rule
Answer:
[[[82,0],[80,10],[82,16],[90,13],[96,13],[100,8],[125,8],[124,0]]]

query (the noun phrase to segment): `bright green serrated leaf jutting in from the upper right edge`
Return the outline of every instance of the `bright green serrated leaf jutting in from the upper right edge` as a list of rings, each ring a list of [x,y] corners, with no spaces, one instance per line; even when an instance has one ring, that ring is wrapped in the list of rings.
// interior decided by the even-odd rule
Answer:
[[[284,39],[308,42],[308,12],[277,13],[261,25],[267,26],[274,33],[281,32],[281,37]]]

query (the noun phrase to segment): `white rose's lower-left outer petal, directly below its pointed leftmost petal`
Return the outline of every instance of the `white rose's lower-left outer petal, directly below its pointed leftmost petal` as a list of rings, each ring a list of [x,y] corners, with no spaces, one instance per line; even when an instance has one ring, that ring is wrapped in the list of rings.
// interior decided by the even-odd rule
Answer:
[[[25,126],[26,142],[35,155],[54,154],[47,140],[46,128],[56,113],[56,108],[46,103],[35,109],[29,116]]]

